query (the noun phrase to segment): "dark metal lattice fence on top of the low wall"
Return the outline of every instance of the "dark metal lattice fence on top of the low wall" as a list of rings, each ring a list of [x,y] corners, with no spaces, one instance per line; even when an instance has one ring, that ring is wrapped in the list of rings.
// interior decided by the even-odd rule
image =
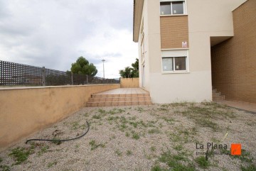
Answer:
[[[103,79],[72,72],[51,70],[0,60],[0,86],[58,86],[83,84],[119,84],[116,79]]]

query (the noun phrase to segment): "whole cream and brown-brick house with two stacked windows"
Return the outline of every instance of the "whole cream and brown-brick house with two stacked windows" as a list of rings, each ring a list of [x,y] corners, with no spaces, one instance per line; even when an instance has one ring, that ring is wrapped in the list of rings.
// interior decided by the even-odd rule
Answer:
[[[139,85],[154,103],[256,103],[255,0],[134,0]]]

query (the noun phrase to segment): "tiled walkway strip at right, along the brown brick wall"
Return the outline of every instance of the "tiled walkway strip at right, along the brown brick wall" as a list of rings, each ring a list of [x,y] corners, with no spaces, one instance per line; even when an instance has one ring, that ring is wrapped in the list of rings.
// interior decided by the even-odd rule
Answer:
[[[219,101],[215,101],[215,102],[217,102],[219,104],[225,104],[225,105],[231,106],[236,109],[250,111],[250,112],[256,114],[256,104],[242,102],[242,101],[228,101],[228,100],[219,100]]]

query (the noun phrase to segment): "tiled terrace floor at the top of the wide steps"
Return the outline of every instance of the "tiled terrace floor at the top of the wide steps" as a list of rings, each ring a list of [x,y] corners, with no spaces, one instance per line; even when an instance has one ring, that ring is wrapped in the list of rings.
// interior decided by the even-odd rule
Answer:
[[[111,89],[106,92],[100,92],[95,95],[100,94],[149,94],[149,92],[146,92],[144,89],[140,88],[120,88],[120,89]]]

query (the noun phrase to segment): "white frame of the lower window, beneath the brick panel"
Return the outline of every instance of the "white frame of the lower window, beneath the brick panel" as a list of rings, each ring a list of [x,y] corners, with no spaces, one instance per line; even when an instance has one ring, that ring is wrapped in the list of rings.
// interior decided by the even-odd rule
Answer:
[[[164,71],[163,59],[173,58],[173,69],[172,71]],[[175,68],[175,57],[186,57],[186,70],[176,70]],[[188,50],[174,49],[174,50],[161,50],[161,72],[162,74],[178,74],[178,73],[189,73],[189,60]]]

